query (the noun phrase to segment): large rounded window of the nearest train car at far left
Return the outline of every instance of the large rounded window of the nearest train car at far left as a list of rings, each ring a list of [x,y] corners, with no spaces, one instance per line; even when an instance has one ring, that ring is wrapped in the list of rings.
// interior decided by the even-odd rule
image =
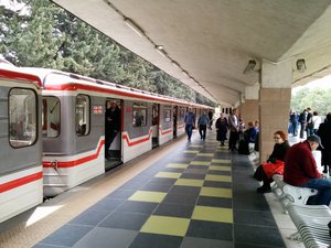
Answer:
[[[36,95],[32,89],[13,88],[9,93],[9,142],[13,148],[36,141]]]

